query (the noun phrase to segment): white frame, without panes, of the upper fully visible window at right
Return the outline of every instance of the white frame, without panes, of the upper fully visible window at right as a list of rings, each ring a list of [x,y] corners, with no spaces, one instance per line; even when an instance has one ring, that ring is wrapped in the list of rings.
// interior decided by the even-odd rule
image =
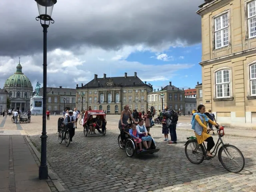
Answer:
[[[223,21],[225,20],[223,17],[226,17],[225,19],[227,19],[227,26],[224,26],[223,27]],[[229,45],[229,42],[230,42],[230,23],[229,23],[229,11],[226,11],[226,12],[223,12],[217,16],[215,16],[214,18],[214,45],[215,45],[215,49],[219,49],[219,48],[222,48],[222,47],[226,47]],[[220,20],[219,20],[220,19]],[[217,20],[220,21],[220,28],[219,29],[216,29],[217,25],[216,25],[216,22]],[[223,41],[223,38],[224,38],[224,30],[228,30],[227,31],[227,43],[224,44],[224,41]],[[217,34],[220,33],[220,39],[221,39],[221,45],[219,47],[217,47]],[[226,41],[225,41],[226,42]]]

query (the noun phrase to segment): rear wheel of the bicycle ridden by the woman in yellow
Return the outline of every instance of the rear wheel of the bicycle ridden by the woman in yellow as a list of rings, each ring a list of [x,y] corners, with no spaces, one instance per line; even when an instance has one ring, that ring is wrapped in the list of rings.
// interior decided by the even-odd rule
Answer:
[[[200,164],[204,160],[205,150],[202,145],[198,145],[197,140],[191,139],[186,143],[185,154],[191,163]]]

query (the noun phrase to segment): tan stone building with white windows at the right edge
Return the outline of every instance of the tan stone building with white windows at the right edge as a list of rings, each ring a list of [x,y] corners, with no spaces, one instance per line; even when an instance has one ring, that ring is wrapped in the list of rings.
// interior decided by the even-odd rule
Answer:
[[[255,0],[205,0],[197,11],[203,104],[231,127],[256,127],[255,10]]]

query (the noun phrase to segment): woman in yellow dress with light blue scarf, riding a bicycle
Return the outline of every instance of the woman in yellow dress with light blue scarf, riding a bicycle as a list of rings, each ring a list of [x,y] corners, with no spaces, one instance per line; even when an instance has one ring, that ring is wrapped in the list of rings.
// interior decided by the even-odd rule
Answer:
[[[207,132],[207,122],[212,125],[218,126],[217,123],[210,120],[205,113],[205,106],[198,105],[196,113],[193,114],[192,117],[192,129],[195,131],[197,143],[200,145],[204,141],[207,142],[207,156],[212,157],[210,150],[214,147],[215,143],[213,141],[212,136],[210,136]],[[210,129],[211,130],[211,129]]]

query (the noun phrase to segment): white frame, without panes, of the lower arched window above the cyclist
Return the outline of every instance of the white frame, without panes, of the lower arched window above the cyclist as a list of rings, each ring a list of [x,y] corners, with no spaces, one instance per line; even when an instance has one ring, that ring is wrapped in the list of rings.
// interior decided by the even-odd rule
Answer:
[[[224,78],[223,78],[223,72],[224,71],[229,71],[229,81],[224,83]],[[217,73],[221,71],[221,83],[217,83]],[[225,84],[229,84],[229,96],[224,96],[224,85]],[[214,71],[214,95],[215,98],[219,99],[219,98],[230,98],[232,97],[232,70],[231,67],[221,67],[218,68]],[[222,96],[218,96],[217,94],[217,87],[219,85],[222,85],[221,89],[222,89]]]

